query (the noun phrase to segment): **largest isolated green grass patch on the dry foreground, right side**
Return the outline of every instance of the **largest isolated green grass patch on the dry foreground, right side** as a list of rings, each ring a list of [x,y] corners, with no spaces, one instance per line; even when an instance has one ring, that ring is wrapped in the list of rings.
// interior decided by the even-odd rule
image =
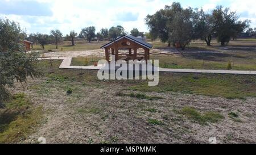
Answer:
[[[181,114],[200,124],[207,124],[208,122],[217,123],[218,121],[224,119],[224,116],[218,114],[217,112],[210,111],[201,114],[193,107],[184,107],[181,110]]]

